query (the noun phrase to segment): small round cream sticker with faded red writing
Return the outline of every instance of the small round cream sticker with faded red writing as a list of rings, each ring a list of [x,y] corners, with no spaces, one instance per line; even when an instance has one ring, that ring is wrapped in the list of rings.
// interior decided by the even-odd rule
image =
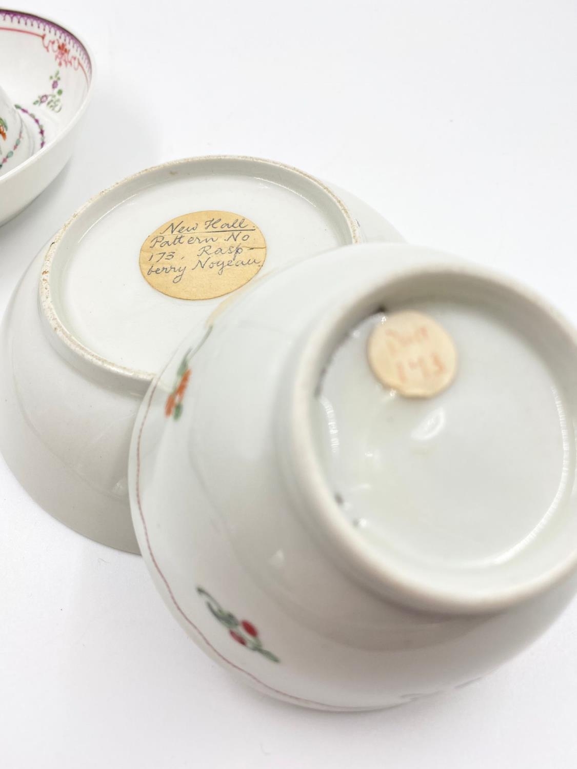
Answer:
[[[386,316],[369,336],[367,355],[375,377],[407,398],[432,398],[457,371],[452,338],[422,312]]]

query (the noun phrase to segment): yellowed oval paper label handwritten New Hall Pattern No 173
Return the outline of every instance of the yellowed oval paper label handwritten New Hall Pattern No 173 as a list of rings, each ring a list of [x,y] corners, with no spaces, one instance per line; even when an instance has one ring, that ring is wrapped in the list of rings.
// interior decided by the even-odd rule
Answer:
[[[265,236],[254,221],[231,211],[195,211],[148,235],[140,270],[162,294],[212,299],[248,283],[265,258]]]

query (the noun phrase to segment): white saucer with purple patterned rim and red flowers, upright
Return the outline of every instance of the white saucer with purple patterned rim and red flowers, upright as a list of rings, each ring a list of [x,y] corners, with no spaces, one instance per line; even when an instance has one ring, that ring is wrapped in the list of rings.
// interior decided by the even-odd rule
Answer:
[[[85,44],[62,25],[0,9],[0,79],[23,127],[16,150],[0,136],[2,225],[31,203],[70,158],[91,95],[92,60]]]

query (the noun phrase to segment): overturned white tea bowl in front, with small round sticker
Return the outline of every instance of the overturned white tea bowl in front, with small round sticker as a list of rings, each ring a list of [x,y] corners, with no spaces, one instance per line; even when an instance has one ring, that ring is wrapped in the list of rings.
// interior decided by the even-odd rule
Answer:
[[[403,382],[456,367],[420,398],[367,361],[415,311],[389,350]],[[142,402],[142,555],[190,638],[262,693],[365,710],[461,687],[575,593],[576,396],[575,331],[509,279],[401,244],[299,261],[198,324]]]

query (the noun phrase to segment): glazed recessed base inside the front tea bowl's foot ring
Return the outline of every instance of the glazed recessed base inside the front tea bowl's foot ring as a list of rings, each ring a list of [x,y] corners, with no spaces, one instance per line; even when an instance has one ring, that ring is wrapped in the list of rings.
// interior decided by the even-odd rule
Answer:
[[[449,332],[458,378],[435,398],[384,388],[366,348],[389,313],[363,320],[319,393],[315,437],[325,474],[347,520],[375,548],[404,558],[426,551],[438,566],[458,552],[464,574],[514,561],[569,504],[575,454],[566,388],[506,312],[471,298],[409,307]]]

